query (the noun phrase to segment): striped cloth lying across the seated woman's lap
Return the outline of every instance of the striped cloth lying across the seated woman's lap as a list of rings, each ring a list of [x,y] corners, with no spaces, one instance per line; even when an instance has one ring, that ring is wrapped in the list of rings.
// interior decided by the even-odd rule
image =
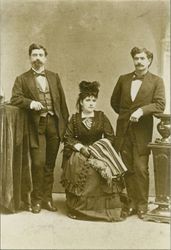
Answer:
[[[89,146],[91,155],[107,165],[113,178],[118,178],[125,174],[127,167],[113,148],[110,141],[106,138],[100,139]]]

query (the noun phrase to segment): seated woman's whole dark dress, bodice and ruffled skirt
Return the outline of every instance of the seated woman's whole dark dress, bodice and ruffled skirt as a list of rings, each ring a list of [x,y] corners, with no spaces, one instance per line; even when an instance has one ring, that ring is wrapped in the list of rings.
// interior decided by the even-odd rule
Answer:
[[[90,166],[88,159],[74,148],[76,143],[88,146],[101,138],[114,141],[113,128],[103,112],[95,111],[90,129],[83,124],[81,114],[71,117],[65,134],[61,183],[70,211],[85,219],[119,221],[121,182],[115,181],[109,187],[107,181]]]

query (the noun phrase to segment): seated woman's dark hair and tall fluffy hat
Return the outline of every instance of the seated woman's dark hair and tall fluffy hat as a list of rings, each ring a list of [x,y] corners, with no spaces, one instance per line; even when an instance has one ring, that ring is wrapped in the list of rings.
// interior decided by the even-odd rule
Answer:
[[[82,81],[79,83],[79,90],[80,93],[78,95],[76,107],[79,112],[81,112],[81,104],[80,101],[83,101],[87,96],[94,96],[98,98],[100,84],[96,81],[87,82]]]

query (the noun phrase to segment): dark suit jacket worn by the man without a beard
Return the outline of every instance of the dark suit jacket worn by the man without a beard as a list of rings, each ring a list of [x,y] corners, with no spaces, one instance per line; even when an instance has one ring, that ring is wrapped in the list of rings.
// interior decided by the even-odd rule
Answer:
[[[134,132],[139,153],[148,154],[147,144],[152,139],[153,116],[161,113],[165,108],[165,91],[163,80],[148,72],[142,82],[142,85],[135,97],[131,100],[131,83],[133,74],[129,73],[119,77],[111,97],[111,106],[119,115],[116,127],[115,147],[121,150],[124,136],[130,124],[131,114],[138,108],[142,108],[143,116],[137,123],[134,123]]]

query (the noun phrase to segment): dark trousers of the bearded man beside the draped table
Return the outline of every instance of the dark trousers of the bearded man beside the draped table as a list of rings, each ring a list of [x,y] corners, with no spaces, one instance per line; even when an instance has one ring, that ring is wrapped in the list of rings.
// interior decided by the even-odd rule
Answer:
[[[40,118],[38,131],[39,146],[31,148],[31,171],[33,191],[31,202],[52,201],[54,167],[60,145],[58,120],[47,114]]]

